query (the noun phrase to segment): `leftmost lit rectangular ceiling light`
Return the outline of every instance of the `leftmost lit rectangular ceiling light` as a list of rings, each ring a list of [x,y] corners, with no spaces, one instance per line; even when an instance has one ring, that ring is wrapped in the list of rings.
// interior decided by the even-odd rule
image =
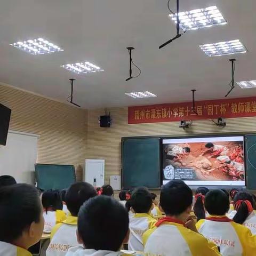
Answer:
[[[33,55],[63,51],[58,45],[55,45],[44,38],[30,39],[23,42],[20,41],[10,45]]]

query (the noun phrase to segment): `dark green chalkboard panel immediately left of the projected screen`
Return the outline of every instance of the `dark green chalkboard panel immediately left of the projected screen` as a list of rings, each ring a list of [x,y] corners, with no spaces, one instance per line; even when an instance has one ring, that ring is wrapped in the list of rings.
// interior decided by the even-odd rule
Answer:
[[[160,138],[122,138],[122,187],[161,186]]]

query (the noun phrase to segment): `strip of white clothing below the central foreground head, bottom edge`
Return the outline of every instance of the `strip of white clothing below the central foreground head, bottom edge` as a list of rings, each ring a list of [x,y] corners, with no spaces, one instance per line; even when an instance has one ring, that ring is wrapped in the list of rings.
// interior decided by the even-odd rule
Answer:
[[[84,249],[82,246],[72,247],[68,250],[66,256],[121,256],[125,255],[122,252],[113,252],[94,249]]]

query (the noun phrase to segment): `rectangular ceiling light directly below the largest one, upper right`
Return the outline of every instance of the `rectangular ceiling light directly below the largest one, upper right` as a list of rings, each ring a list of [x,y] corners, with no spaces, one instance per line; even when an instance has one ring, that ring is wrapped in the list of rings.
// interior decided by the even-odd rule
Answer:
[[[238,40],[199,45],[209,57],[247,52],[246,47]]]

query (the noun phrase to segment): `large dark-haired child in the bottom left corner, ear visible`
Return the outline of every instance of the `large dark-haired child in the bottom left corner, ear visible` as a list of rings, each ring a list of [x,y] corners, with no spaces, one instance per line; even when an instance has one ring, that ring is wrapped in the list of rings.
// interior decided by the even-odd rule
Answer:
[[[0,255],[29,256],[27,250],[43,233],[43,207],[35,187],[0,188]]]

